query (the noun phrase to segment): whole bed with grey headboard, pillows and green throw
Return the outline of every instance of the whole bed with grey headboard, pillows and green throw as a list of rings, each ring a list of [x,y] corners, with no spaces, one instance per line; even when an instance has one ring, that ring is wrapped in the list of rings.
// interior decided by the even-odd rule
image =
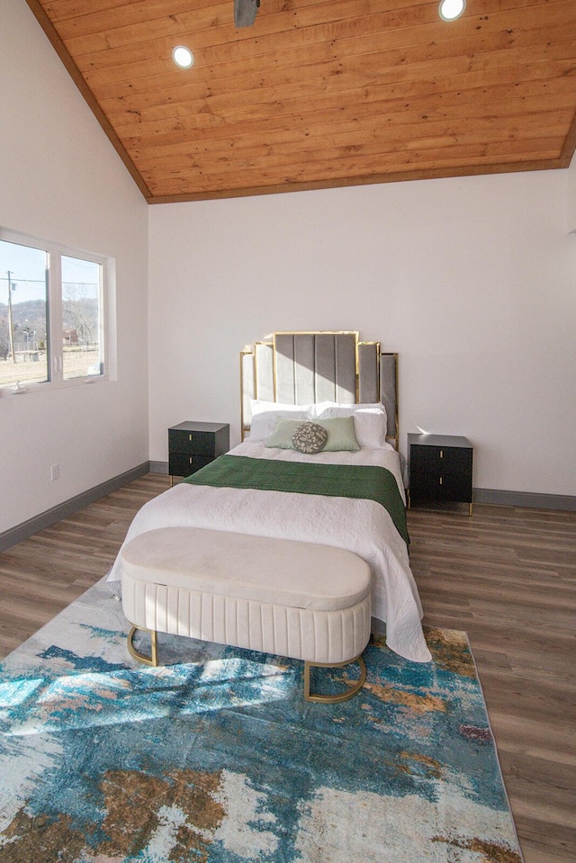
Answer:
[[[429,661],[408,553],[397,356],[355,331],[275,333],[240,353],[240,384],[241,443],[149,501],[125,544],[190,526],[347,549],[371,568],[374,626],[385,625],[389,647]],[[320,451],[294,438],[319,427]],[[116,595],[121,576],[119,554]]]

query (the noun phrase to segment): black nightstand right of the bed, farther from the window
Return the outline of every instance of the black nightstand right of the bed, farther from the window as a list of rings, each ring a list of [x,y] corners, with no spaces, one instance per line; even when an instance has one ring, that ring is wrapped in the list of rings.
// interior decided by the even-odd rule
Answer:
[[[421,500],[468,504],[472,516],[473,445],[467,437],[409,435],[409,506]]]

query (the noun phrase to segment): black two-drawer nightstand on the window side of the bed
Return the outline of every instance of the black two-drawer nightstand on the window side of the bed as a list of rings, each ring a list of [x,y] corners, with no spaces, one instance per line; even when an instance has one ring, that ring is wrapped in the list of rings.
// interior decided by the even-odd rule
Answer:
[[[168,428],[168,473],[190,476],[230,448],[230,427],[225,423],[180,423]]]

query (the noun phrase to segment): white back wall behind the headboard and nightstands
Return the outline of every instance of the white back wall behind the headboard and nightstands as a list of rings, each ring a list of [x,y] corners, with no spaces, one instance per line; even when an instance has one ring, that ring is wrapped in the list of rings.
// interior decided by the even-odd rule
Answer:
[[[245,344],[357,328],[400,354],[402,451],[465,435],[475,487],[575,495],[572,170],[150,207],[150,458],[184,419],[238,442]]]

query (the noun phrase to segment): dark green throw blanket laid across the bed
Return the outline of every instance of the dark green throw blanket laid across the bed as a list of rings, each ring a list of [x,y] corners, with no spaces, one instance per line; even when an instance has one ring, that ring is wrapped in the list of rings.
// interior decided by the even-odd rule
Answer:
[[[299,494],[375,500],[390,513],[404,542],[410,542],[404,502],[394,475],[385,467],[220,455],[200,471],[186,477],[184,482],[228,489],[296,491]]]

